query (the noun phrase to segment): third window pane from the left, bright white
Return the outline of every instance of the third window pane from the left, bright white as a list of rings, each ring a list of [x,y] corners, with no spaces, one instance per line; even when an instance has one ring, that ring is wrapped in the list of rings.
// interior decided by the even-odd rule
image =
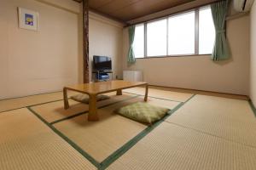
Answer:
[[[168,54],[195,54],[195,11],[169,17]]]

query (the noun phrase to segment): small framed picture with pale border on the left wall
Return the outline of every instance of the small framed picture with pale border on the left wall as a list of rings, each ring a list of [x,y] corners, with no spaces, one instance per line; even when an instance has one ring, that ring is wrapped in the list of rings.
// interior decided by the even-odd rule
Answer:
[[[38,12],[19,7],[18,13],[20,28],[38,31]]]

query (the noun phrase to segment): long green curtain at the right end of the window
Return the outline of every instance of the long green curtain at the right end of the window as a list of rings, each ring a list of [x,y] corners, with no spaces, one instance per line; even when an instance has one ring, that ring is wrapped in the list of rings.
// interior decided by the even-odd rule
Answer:
[[[212,51],[212,60],[224,60],[230,58],[230,49],[225,37],[225,19],[228,13],[230,0],[213,3],[212,20],[215,26],[216,36]]]

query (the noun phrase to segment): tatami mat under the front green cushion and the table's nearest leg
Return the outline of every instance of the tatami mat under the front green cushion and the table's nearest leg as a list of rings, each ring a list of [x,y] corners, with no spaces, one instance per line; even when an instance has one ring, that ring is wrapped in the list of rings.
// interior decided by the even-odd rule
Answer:
[[[143,101],[143,98],[128,99],[119,104],[99,109],[99,122],[88,122],[86,114],[58,122],[54,126],[94,157],[96,161],[101,162],[147,127],[142,123],[113,113],[115,109],[137,101]],[[151,103],[153,102],[151,100]],[[168,102],[172,103],[169,105],[170,108],[177,105],[177,102]]]

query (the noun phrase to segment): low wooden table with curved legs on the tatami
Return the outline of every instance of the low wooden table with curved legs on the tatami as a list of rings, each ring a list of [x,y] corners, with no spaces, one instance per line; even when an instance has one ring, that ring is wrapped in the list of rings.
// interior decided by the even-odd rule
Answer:
[[[134,88],[144,86],[145,87],[145,97],[144,100],[148,99],[148,83],[147,82],[127,82],[122,80],[108,81],[108,82],[92,82],[86,84],[77,84],[73,86],[68,86],[63,88],[64,96],[64,108],[68,109],[69,104],[67,100],[67,90],[76,91],[82,94],[88,94],[89,100],[89,115],[88,121],[98,121],[99,117],[97,115],[96,107],[96,96],[98,94],[106,94],[109,92],[116,91],[117,95],[122,95],[122,89]]]

